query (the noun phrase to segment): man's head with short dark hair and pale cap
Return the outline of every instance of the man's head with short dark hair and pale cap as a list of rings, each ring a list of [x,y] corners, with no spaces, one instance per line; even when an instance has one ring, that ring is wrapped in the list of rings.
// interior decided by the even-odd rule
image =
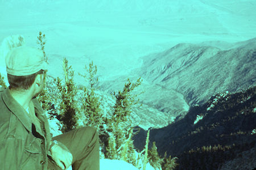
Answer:
[[[42,50],[19,46],[7,54],[5,61],[10,90],[32,89],[35,96],[42,91],[48,69]]]

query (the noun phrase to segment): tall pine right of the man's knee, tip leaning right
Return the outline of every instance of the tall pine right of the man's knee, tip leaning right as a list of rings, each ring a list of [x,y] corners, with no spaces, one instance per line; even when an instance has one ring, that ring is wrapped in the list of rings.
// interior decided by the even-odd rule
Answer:
[[[131,83],[129,79],[125,83],[125,87],[122,91],[118,91],[115,96],[114,112],[112,117],[106,121],[108,126],[108,131],[113,135],[115,144],[109,143],[106,150],[113,150],[111,146],[115,146],[115,153],[117,153],[117,158],[125,160],[134,166],[138,165],[138,160],[135,159],[135,148],[133,141],[131,140],[134,133],[133,127],[131,126],[130,113],[131,107],[138,103],[139,100],[135,100],[138,95],[131,94],[135,87],[138,87],[142,80],[139,78],[137,82]],[[105,153],[106,158],[111,159],[109,152]]]

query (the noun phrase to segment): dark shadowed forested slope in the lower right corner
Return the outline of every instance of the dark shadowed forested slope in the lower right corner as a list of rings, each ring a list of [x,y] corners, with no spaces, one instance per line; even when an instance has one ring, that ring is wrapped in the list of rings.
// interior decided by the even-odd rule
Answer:
[[[212,96],[202,106],[165,128],[152,129],[161,155],[177,156],[177,169],[256,168],[256,86]],[[134,137],[140,150],[146,131]],[[244,164],[246,160],[247,164]],[[222,167],[222,168],[221,168]],[[248,168],[249,167],[249,168]]]

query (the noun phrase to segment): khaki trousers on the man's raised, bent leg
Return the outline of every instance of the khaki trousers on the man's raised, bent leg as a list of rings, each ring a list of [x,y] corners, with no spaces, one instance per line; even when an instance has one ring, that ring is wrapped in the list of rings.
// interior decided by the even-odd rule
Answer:
[[[53,137],[63,143],[73,155],[73,170],[99,170],[100,151],[98,133],[95,128],[83,127]],[[68,168],[68,167],[67,167]],[[52,160],[48,159],[48,169],[60,170]]]

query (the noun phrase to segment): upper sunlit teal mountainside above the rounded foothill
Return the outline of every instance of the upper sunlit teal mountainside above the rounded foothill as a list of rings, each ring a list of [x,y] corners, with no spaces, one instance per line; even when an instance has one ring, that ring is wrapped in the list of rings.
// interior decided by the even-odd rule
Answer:
[[[202,104],[212,94],[236,92],[254,85],[255,56],[256,39],[229,50],[179,44],[163,53],[143,57],[139,75],[148,82],[179,91],[190,105]]]

